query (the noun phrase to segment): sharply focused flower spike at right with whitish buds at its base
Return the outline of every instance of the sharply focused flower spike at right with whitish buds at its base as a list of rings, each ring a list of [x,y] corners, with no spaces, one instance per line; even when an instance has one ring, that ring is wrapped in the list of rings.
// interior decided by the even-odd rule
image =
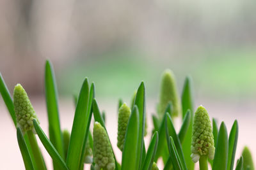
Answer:
[[[197,162],[202,155],[207,155],[209,159],[214,158],[215,148],[211,121],[203,106],[199,106],[195,113],[191,152],[193,162]]]

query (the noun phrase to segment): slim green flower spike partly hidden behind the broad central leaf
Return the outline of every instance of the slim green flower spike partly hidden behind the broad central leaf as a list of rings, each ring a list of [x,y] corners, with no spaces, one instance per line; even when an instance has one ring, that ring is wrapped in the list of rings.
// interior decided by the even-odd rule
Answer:
[[[123,151],[125,132],[129,117],[131,115],[130,108],[124,103],[118,111],[118,132],[117,132],[117,146]]]

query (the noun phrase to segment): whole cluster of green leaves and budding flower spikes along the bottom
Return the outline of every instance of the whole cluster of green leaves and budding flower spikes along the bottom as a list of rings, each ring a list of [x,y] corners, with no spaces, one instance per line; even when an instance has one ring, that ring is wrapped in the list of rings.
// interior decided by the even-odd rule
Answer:
[[[45,98],[49,120],[49,138],[41,129],[35,110],[21,85],[14,88],[13,99],[0,74],[0,92],[13,124],[17,127],[17,139],[26,169],[46,169],[44,158],[38,148],[35,135],[52,158],[54,169],[80,170],[84,163],[91,169],[146,170],[158,169],[156,162],[163,159],[164,169],[194,169],[199,160],[200,169],[213,170],[251,169],[252,155],[248,148],[234,166],[238,138],[238,124],[234,122],[227,133],[224,122],[220,129],[216,119],[209,119],[204,107],[199,106],[194,117],[193,88],[191,78],[186,78],[182,96],[179,97],[175,78],[165,71],[161,85],[157,115],[152,115],[154,129],[148,148],[146,134],[145,84],[141,82],[132,96],[131,109],[118,101],[118,143],[122,151],[122,162],[117,162],[108,131],[105,114],[95,99],[95,85],[85,78],[79,97],[74,97],[76,113],[72,131],[61,131],[58,111],[58,94],[54,72],[49,61],[45,64]],[[181,98],[181,99],[180,99]],[[90,131],[92,116],[95,120],[93,134]],[[179,131],[174,118],[182,117]],[[93,153],[93,159],[92,159]],[[207,159],[209,158],[209,160]],[[213,159],[213,160],[211,160]],[[193,162],[193,161],[194,162]]]

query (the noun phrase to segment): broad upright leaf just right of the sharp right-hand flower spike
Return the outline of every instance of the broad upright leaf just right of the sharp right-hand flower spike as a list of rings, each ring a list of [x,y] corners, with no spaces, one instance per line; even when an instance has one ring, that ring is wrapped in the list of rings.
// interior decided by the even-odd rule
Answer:
[[[227,170],[228,163],[228,133],[224,122],[221,122],[216,144],[212,170]]]

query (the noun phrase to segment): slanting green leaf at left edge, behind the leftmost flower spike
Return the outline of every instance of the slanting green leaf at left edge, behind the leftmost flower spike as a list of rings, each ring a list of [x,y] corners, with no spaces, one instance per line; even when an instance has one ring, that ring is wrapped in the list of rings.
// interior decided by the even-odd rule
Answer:
[[[0,73],[0,93],[4,99],[4,103],[6,104],[6,107],[12,117],[13,123],[16,127],[17,122],[16,122],[16,117],[15,117],[15,111],[14,111],[14,106],[13,106],[13,101],[12,101],[12,97],[10,96],[10,92],[7,89],[5,83],[4,83],[4,79]]]

